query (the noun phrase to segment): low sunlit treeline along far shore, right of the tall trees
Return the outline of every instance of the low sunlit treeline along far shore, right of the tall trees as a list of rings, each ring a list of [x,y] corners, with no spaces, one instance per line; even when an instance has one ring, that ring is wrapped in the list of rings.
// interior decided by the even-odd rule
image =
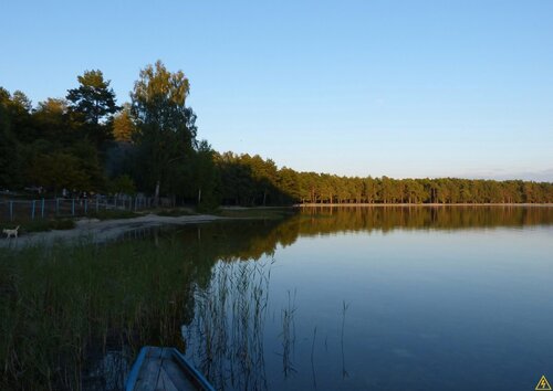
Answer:
[[[216,155],[225,203],[551,203],[553,183],[457,178],[338,177],[276,169],[259,156]]]

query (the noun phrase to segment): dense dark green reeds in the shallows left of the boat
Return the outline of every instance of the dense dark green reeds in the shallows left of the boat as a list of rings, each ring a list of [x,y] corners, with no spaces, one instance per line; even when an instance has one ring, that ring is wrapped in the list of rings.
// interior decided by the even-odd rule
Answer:
[[[184,254],[150,242],[0,249],[0,389],[106,389],[109,351],[181,347],[192,278]]]

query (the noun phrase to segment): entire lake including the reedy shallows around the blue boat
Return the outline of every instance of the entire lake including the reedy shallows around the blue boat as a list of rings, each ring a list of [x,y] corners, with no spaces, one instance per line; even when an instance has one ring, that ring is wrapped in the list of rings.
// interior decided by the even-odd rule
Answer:
[[[144,345],[225,390],[553,380],[553,208],[303,208],[2,254],[8,389],[121,389]]]

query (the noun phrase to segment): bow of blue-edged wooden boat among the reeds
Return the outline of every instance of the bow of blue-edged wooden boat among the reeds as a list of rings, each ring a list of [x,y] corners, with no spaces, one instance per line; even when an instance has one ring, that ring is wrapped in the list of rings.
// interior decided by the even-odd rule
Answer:
[[[215,391],[213,387],[175,348],[146,346],[140,349],[126,391]]]

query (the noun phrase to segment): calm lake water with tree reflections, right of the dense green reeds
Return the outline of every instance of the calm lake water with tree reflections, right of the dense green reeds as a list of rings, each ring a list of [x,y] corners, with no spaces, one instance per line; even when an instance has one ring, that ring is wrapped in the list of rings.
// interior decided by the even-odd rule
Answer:
[[[305,209],[173,235],[202,270],[186,356],[219,389],[553,380],[552,208]]]

